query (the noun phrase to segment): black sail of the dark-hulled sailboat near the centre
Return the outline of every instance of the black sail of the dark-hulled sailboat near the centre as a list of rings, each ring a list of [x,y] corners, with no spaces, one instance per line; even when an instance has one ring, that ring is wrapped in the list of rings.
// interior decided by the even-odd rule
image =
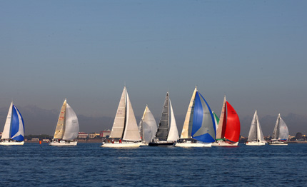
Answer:
[[[163,104],[163,110],[158,123],[158,130],[156,131],[156,138],[159,140],[166,140],[168,136],[168,92]]]

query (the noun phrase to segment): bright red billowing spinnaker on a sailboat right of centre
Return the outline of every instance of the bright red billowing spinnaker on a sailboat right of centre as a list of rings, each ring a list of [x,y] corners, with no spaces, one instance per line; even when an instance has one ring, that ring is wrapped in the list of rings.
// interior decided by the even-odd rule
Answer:
[[[225,132],[225,138],[230,141],[237,142],[240,138],[240,120],[238,114],[233,109],[230,103],[227,103],[227,127]]]

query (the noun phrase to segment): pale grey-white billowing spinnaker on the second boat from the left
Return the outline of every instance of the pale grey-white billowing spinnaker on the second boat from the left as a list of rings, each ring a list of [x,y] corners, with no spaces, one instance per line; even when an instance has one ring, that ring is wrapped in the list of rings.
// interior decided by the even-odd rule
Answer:
[[[66,104],[64,140],[74,140],[79,133],[79,122],[74,110]]]

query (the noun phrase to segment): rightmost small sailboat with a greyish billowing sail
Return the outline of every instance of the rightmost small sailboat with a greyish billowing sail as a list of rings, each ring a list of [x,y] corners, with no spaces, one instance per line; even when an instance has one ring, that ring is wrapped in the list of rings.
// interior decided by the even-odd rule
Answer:
[[[268,144],[286,146],[288,145],[287,142],[288,136],[289,136],[288,127],[285,121],[283,121],[283,118],[281,118],[281,113],[278,113],[278,117],[273,131],[273,139]]]

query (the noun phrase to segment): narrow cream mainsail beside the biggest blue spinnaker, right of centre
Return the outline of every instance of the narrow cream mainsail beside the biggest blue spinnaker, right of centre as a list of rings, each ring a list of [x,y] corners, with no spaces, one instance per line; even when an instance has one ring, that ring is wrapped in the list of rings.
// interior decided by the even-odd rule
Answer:
[[[180,138],[191,138],[192,133],[192,124],[193,124],[193,112],[194,112],[194,100],[196,95],[197,88],[195,87],[191,101],[188,104],[188,111],[186,111],[186,118],[183,123],[183,128]]]

